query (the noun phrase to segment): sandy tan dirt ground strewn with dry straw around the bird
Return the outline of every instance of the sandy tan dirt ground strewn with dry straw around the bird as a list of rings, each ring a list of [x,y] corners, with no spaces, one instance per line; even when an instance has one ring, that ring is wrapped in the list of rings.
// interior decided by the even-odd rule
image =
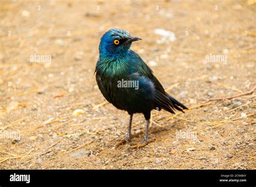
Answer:
[[[255,86],[252,3],[1,1],[0,169],[255,169],[255,92],[202,105]],[[156,140],[143,148],[131,149],[144,138],[142,114],[140,136],[115,147],[129,115],[105,103],[93,75],[110,28],[142,38],[132,49],[191,107],[152,111]]]

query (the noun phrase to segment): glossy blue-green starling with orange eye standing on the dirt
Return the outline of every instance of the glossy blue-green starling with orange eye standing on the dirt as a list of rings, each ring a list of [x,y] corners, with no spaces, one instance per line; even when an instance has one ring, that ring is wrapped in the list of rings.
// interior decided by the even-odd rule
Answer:
[[[105,32],[99,43],[95,73],[98,88],[105,99],[130,115],[125,140],[132,137],[133,114],[144,114],[146,126],[142,143],[146,145],[151,110],[163,109],[174,114],[175,110],[184,112],[187,107],[165,92],[152,69],[130,49],[132,42],[138,40],[142,39],[120,28]]]

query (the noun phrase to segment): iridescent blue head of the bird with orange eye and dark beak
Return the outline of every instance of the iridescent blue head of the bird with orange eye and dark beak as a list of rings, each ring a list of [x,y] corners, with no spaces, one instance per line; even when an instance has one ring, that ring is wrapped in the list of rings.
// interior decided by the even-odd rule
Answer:
[[[141,40],[132,37],[128,31],[114,28],[103,34],[99,44],[101,57],[123,57],[129,51],[133,41]]]

